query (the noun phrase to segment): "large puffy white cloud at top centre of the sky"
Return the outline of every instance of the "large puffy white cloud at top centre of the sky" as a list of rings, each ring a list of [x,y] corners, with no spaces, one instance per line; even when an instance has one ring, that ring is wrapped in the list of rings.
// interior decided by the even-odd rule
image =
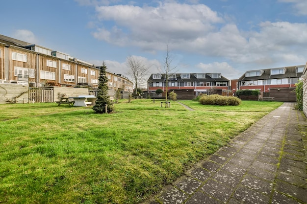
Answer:
[[[136,45],[145,50],[160,49],[169,40],[193,41],[214,30],[212,23],[223,22],[216,12],[204,4],[173,2],[160,3],[157,7],[115,5],[100,6],[96,11],[100,21],[113,21],[117,29],[104,25],[93,34],[95,38],[115,45]],[[103,29],[108,29],[112,38],[104,38]]]

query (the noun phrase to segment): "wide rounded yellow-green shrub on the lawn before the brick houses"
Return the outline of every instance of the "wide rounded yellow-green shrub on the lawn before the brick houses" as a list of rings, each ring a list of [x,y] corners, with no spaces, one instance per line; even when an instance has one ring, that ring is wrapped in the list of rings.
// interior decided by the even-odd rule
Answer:
[[[218,106],[238,106],[241,99],[234,96],[221,96],[218,94],[204,95],[199,99],[199,103],[203,105],[218,105]]]

